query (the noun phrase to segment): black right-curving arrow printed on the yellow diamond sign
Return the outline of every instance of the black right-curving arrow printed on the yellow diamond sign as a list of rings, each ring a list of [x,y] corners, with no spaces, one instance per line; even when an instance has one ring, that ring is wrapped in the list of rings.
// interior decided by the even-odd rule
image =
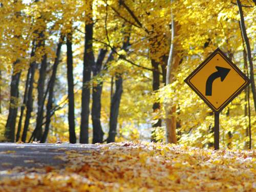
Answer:
[[[218,66],[216,66],[216,69],[218,71],[216,71],[215,73],[212,73],[206,81],[206,89],[205,89],[206,96],[211,96],[212,83],[214,82],[214,80],[220,77],[222,82],[230,71],[230,69],[222,68]]]

